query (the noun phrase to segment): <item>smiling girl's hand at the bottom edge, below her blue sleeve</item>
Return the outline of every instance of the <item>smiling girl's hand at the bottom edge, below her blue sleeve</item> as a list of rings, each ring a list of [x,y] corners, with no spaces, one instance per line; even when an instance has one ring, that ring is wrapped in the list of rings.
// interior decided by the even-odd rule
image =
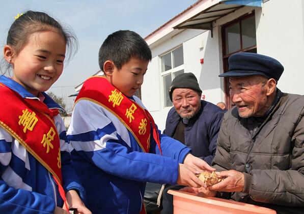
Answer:
[[[92,212],[81,201],[75,190],[69,190],[66,193],[66,199],[69,209],[74,210],[74,214],[92,214]]]

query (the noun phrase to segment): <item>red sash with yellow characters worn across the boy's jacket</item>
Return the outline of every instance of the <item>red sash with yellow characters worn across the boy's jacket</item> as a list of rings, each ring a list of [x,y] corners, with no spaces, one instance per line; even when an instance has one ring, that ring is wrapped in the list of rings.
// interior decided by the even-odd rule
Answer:
[[[150,113],[136,102],[127,98],[114,85],[101,76],[87,79],[75,100],[92,101],[113,113],[133,134],[137,143],[145,152],[150,150],[151,126],[153,138],[160,150],[159,135]]]

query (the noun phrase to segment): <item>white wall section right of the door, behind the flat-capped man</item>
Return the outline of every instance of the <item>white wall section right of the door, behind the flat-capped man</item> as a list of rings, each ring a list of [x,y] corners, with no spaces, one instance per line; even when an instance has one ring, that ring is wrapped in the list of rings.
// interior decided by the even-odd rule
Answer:
[[[256,12],[258,53],[284,66],[278,87],[304,94],[304,1],[270,0]]]

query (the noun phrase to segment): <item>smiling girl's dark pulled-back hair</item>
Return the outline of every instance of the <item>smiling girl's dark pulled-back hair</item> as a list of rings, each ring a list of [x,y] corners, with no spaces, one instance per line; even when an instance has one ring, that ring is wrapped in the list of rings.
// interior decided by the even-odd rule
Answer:
[[[17,55],[29,41],[29,37],[37,32],[54,30],[61,34],[67,45],[67,60],[77,51],[78,42],[71,29],[65,29],[62,25],[44,12],[27,11],[17,18],[11,25],[7,37],[7,45],[13,47]]]

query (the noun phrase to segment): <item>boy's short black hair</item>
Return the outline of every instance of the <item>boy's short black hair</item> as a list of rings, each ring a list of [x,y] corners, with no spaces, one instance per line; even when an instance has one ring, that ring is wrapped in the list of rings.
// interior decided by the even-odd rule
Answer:
[[[140,35],[130,30],[118,30],[108,35],[102,43],[98,63],[102,71],[106,60],[111,60],[118,69],[121,69],[131,57],[150,61],[152,54],[148,44]]]

